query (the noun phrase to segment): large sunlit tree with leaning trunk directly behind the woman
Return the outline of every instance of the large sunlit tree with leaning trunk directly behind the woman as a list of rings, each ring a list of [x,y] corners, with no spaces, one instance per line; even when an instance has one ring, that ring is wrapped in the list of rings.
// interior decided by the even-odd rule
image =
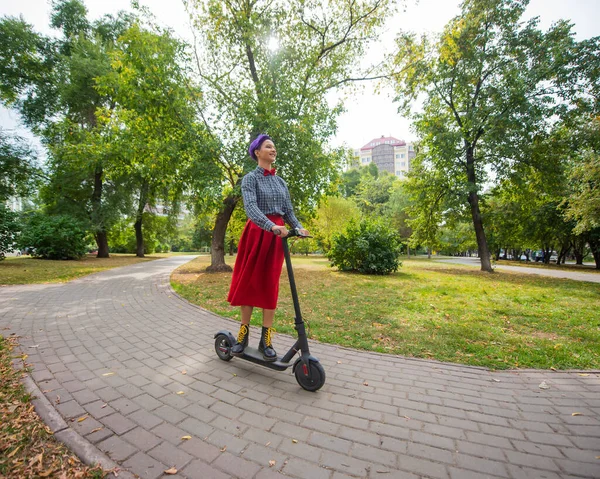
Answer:
[[[343,152],[324,146],[341,104],[327,93],[369,77],[356,65],[394,8],[389,0],[188,0],[200,48],[198,74],[206,93],[204,120],[220,145],[215,158],[223,188],[217,207],[210,270],[225,265],[225,233],[241,199],[240,179],[254,167],[250,137],[266,132],[279,150],[299,211],[311,210],[337,174]],[[199,52],[202,52],[201,54]]]

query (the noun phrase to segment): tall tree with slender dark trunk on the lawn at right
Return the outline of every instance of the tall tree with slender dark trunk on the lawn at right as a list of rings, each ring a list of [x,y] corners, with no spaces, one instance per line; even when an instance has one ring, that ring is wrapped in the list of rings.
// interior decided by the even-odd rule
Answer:
[[[556,95],[563,91],[560,82],[575,45],[566,22],[546,33],[538,30],[537,18],[522,23],[527,4],[465,0],[438,41],[401,34],[393,65],[401,71],[394,80],[404,109],[419,93],[427,95],[415,115],[416,129],[432,167],[457,179],[470,208],[481,269],[489,272],[482,185],[491,180],[488,171],[500,180],[519,174],[530,160],[531,138],[557,111]]]

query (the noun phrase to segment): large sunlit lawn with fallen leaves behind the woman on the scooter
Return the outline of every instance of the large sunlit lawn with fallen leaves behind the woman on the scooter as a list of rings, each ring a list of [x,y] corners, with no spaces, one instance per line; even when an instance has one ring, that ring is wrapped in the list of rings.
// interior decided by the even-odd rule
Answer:
[[[239,319],[239,308],[226,302],[231,274],[203,273],[209,261],[177,269],[173,287]],[[598,284],[423,259],[404,260],[390,276],[340,273],[324,258],[294,256],[293,264],[313,339],[492,369],[600,368]],[[280,286],[275,327],[295,334],[285,268]],[[260,325],[258,311],[253,324]]]

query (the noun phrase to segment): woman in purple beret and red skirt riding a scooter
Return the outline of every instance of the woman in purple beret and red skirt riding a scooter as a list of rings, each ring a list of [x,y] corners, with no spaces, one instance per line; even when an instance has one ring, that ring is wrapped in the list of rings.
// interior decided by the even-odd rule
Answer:
[[[250,318],[254,308],[263,310],[258,345],[265,361],[275,361],[271,336],[283,267],[281,238],[288,235],[285,223],[308,235],[294,216],[285,181],[275,175],[277,150],[268,135],[259,135],[248,149],[257,167],[242,179],[242,197],[248,221],[240,238],[227,301],[241,306],[242,324],[231,354],[241,356],[248,345]]]

